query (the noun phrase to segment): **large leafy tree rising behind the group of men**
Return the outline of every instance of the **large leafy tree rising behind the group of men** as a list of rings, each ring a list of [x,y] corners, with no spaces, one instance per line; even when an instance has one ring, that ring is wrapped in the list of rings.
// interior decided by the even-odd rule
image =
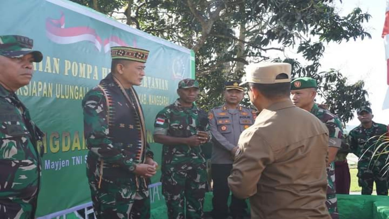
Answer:
[[[281,60],[293,65],[293,76],[316,78],[319,95],[344,123],[369,104],[363,81],[318,72],[326,43],[370,37],[363,28],[370,15],[359,8],[342,17],[333,0],[130,0],[125,13],[135,28],[195,51],[204,109],[221,104],[220,85],[241,78],[245,65]]]

